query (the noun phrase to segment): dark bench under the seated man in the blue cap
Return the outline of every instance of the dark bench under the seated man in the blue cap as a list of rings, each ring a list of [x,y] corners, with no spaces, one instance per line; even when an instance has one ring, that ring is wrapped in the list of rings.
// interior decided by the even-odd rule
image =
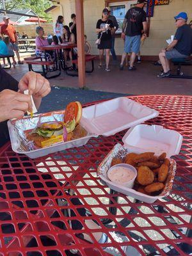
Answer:
[[[181,66],[190,66],[192,65],[192,60],[187,58],[187,59],[179,59],[179,58],[175,58],[175,59],[172,59],[172,62],[173,62],[173,65],[177,65],[177,72],[175,75],[170,75],[169,77],[172,77],[172,78],[186,78],[186,79],[192,79],[192,74],[191,76],[189,75],[185,75],[184,72],[182,72],[181,70]]]

